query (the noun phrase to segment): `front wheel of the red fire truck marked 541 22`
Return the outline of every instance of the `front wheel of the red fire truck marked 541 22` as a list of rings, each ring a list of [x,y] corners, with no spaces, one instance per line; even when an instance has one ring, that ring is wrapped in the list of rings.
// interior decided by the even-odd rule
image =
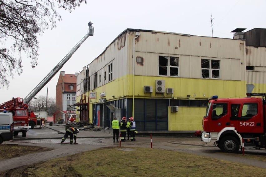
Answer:
[[[237,153],[239,151],[239,141],[233,136],[225,136],[221,139],[219,148],[223,152]]]

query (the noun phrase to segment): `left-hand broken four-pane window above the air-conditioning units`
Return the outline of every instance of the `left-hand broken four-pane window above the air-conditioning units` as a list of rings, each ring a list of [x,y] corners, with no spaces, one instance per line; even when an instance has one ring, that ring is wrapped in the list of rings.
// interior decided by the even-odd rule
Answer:
[[[169,59],[169,60],[168,60]],[[159,55],[159,75],[178,76],[179,57]]]

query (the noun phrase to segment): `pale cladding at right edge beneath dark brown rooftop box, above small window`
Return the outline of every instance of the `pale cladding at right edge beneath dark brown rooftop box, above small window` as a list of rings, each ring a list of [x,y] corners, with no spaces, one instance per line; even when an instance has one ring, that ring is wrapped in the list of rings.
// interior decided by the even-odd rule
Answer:
[[[266,47],[246,46],[247,66],[266,66]]]

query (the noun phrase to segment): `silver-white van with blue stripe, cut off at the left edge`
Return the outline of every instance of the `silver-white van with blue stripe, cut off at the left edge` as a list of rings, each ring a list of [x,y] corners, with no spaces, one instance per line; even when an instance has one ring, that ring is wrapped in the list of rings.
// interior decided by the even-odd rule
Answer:
[[[0,112],[0,144],[14,137],[14,121],[11,112]]]

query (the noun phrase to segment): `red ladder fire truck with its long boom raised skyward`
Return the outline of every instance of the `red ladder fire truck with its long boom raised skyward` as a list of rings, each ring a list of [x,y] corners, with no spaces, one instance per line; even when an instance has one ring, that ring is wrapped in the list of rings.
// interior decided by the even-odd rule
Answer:
[[[28,103],[39,93],[39,91],[53,78],[55,74],[63,67],[63,65],[71,58],[81,44],[89,37],[93,36],[94,27],[89,26],[86,35],[66,54],[66,56],[42,79],[42,81],[23,98],[12,98],[5,103],[0,104],[0,112],[12,112],[14,119],[14,135],[22,132],[22,137],[26,137],[27,129],[34,128],[35,125],[42,124],[42,119],[38,119],[34,112],[30,111]]]

